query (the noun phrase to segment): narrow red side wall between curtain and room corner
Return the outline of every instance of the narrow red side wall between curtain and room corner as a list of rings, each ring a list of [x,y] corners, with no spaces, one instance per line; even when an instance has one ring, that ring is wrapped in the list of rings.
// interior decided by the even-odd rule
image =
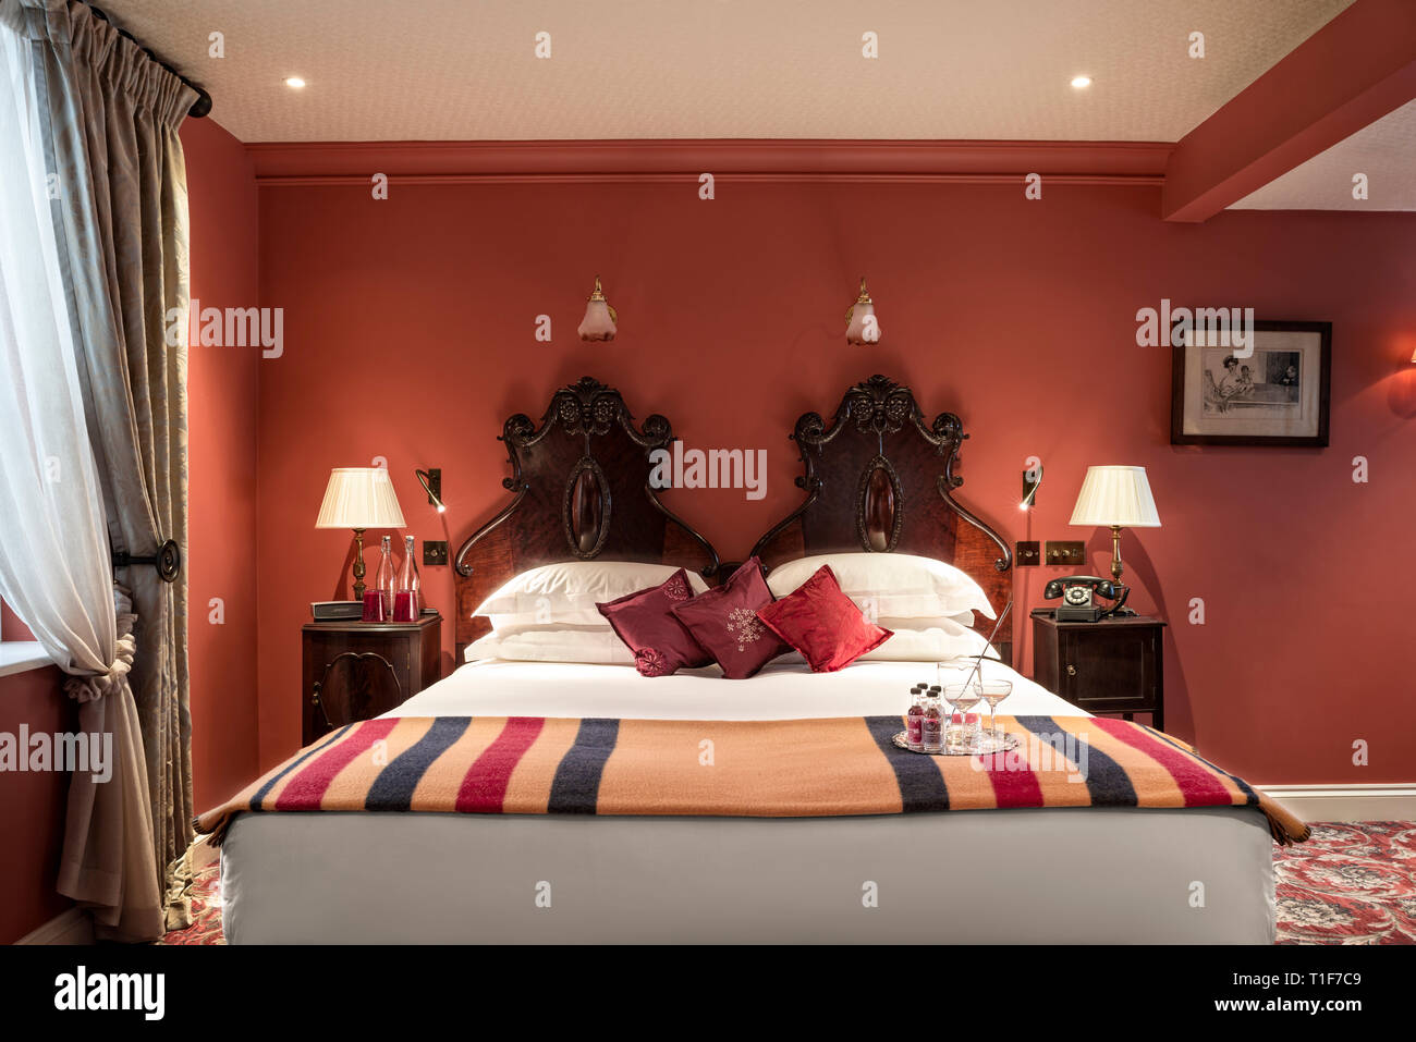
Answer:
[[[255,174],[244,146],[188,119],[191,296],[202,307],[258,303]],[[198,810],[256,770],[256,402],[259,351],[188,350],[188,619],[193,790]],[[211,622],[212,597],[225,622]]]

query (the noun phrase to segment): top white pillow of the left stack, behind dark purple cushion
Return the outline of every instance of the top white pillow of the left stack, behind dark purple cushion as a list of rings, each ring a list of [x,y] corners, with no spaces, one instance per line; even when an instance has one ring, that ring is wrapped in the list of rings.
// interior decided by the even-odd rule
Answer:
[[[542,565],[508,579],[490,597],[477,605],[473,616],[487,616],[493,630],[515,626],[590,626],[609,630],[610,624],[595,605],[657,586],[678,569],[671,565],[646,565],[634,561],[564,561]],[[694,595],[708,589],[697,572],[688,572]]]

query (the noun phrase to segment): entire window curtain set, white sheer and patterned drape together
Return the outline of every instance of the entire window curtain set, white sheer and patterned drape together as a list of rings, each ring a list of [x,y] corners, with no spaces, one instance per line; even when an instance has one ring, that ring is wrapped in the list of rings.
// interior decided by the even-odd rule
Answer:
[[[195,93],[69,0],[0,0],[0,38],[3,183],[18,188],[0,201],[0,436],[14,446],[0,596],[75,675],[81,726],[113,735],[120,767],[72,780],[59,891],[102,934],[150,939],[163,866],[191,838],[185,578],[135,566],[115,588],[109,548],[187,545],[177,127]]]

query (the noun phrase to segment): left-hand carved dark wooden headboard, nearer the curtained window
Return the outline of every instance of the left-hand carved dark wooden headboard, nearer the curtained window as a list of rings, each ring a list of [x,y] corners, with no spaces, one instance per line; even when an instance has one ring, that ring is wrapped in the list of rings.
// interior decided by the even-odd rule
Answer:
[[[506,442],[514,498],[457,549],[456,664],[487,633],[473,609],[511,576],[558,561],[647,561],[701,572],[718,554],[675,517],[649,484],[650,453],[668,449],[668,420],[654,413],[636,428],[615,388],[592,377],[561,388],[539,423],[511,416]]]

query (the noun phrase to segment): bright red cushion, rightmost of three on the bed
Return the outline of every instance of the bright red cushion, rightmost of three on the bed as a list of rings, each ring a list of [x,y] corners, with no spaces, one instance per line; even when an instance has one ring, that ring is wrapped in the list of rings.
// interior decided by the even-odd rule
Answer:
[[[782,600],[758,609],[758,619],[806,655],[813,672],[844,670],[895,636],[867,622],[855,602],[841,593],[830,565],[821,565]]]

